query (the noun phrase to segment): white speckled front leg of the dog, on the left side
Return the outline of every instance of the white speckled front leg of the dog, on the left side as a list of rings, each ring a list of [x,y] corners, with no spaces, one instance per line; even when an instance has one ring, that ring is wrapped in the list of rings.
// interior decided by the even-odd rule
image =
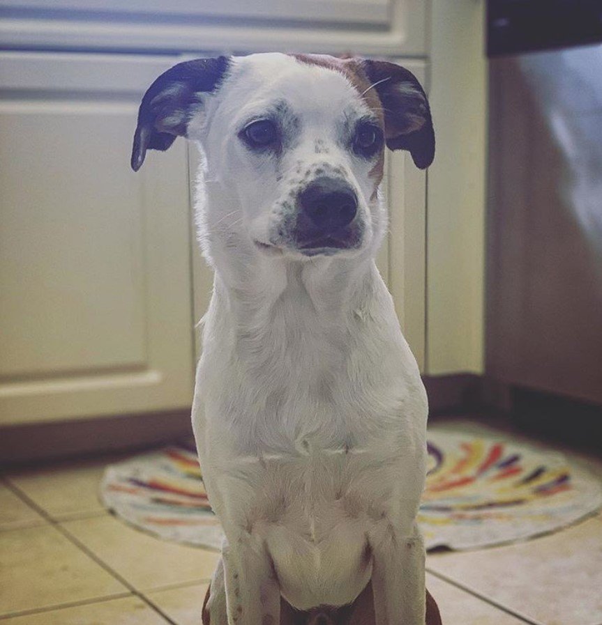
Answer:
[[[264,545],[241,533],[222,547],[228,625],[278,625],[280,586]]]

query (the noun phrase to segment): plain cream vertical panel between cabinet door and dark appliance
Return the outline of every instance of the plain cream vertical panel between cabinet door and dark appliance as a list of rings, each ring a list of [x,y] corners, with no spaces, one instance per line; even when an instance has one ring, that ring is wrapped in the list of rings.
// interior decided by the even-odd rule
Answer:
[[[433,0],[430,100],[437,155],[428,171],[430,375],[483,372],[486,68],[483,0]]]

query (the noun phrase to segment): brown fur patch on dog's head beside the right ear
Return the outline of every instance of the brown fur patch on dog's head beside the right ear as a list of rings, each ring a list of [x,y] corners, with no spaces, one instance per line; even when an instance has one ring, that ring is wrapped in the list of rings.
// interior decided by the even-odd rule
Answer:
[[[327,54],[293,54],[297,61],[301,63],[307,63],[308,65],[317,65],[317,67],[325,68],[327,70],[333,70],[343,74],[345,78],[356,88],[356,91],[361,96],[361,99],[366,102],[366,105],[375,114],[378,119],[380,128],[384,132],[384,114],[382,110],[382,102],[376,89],[373,89],[373,84],[370,82],[366,70],[363,66],[363,59],[357,59],[353,56],[343,56],[337,58],[336,56],[328,56]],[[376,196],[376,190],[380,184],[384,170],[384,149],[381,151],[379,159],[375,166],[370,170],[368,174],[372,180],[374,180],[374,193]]]

